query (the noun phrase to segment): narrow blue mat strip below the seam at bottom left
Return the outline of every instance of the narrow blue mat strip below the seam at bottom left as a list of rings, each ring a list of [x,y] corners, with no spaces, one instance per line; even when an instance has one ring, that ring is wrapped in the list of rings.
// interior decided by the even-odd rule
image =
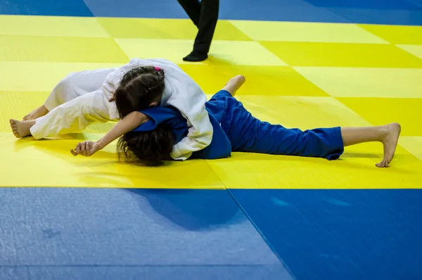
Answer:
[[[0,267],[1,280],[284,280],[279,266]]]

